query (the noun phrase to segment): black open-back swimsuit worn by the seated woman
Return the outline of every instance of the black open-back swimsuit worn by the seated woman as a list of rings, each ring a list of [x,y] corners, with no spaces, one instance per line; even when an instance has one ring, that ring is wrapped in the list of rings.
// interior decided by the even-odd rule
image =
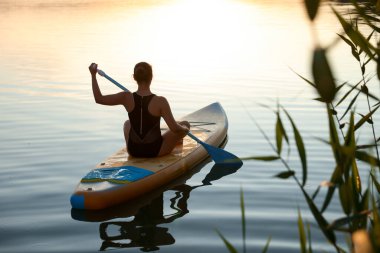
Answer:
[[[156,157],[162,145],[160,129],[161,117],[148,111],[150,101],[155,95],[139,96],[133,93],[135,107],[128,113],[131,122],[128,152],[135,157]]]

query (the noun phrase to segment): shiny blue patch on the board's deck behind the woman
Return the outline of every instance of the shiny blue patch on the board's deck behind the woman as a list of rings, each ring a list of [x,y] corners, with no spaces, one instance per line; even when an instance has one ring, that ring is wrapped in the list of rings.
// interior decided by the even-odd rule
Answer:
[[[154,174],[154,172],[134,166],[121,166],[112,168],[99,168],[90,171],[82,178],[82,183],[109,181],[125,184],[140,180]]]

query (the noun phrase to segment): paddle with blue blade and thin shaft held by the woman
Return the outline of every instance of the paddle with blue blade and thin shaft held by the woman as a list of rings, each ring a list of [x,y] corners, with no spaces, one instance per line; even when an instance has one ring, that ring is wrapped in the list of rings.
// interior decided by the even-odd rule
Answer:
[[[115,81],[113,78],[111,78],[109,75],[107,75],[104,71],[98,69],[98,74],[105,77],[106,79],[108,79],[110,82],[112,82],[113,84],[118,86],[120,89],[122,89],[124,91],[129,91],[123,85],[121,85],[120,83]],[[224,149],[211,146],[211,145],[201,141],[196,136],[194,136],[191,132],[188,132],[187,135],[190,136],[190,138],[192,138],[193,140],[195,140],[199,144],[201,144],[206,149],[206,151],[208,152],[208,154],[210,155],[212,160],[214,160],[215,163],[221,164],[221,165],[226,165],[226,166],[234,166],[234,167],[243,165],[243,162],[234,154],[231,154]]]

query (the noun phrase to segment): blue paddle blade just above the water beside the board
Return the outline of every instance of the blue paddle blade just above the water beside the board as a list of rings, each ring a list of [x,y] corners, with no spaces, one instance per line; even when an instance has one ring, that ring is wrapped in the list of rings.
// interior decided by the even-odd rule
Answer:
[[[234,168],[240,168],[243,165],[243,162],[237,156],[224,149],[216,148],[204,142],[200,142],[200,144],[207,150],[212,160],[217,164],[233,166]]]

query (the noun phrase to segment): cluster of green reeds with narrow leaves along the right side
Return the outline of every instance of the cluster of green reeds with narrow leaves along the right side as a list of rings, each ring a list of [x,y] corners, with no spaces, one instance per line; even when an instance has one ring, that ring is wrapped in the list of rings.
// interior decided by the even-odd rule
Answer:
[[[313,26],[318,17],[321,1],[305,0],[304,3],[311,21],[311,29],[315,30]],[[314,217],[313,222],[317,224],[327,242],[334,247],[336,252],[346,252],[347,249],[349,252],[356,253],[380,252],[380,159],[378,150],[380,138],[379,133],[376,132],[380,128],[376,128],[374,121],[374,117],[378,115],[380,99],[375,95],[378,90],[370,90],[367,85],[371,78],[377,77],[378,81],[380,80],[380,39],[378,36],[380,33],[380,19],[378,18],[380,0],[367,2],[351,0],[350,4],[350,15],[340,13],[331,6],[333,13],[343,28],[343,32],[338,34],[336,41],[327,47],[322,47],[317,34],[313,33],[312,80],[297,74],[312,89],[317,91],[319,95],[317,100],[323,103],[326,108],[329,139],[320,140],[326,144],[326,148],[331,151],[334,157],[328,182],[321,183],[313,192],[305,188],[308,171],[312,169],[307,164],[307,147],[296,122],[281,105],[277,105],[277,109],[274,111],[276,117],[274,141],[270,140],[265,131],[256,123],[258,129],[271,146],[273,154],[252,156],[245,159],[265,162],[280,161],[283,164],[284,171],[275,176],[284,180],[294,180]],[[361,32],[363,26],[367,26],[366,28],[370,28],[372,32],[364,35]],[[338,41],[342,41],[348,46],[348,52],[358,63],[359,75],[354,84],[350,82],[337,84],[334,73],[330,68],[328,54]],[[377,66],[376,74],[372,74],[372,76],[367,73],[366,68],[371,62]],[[343,92],[344,90],[345,92]],[[356,105],[360,99],[366,103],[367,111],[365,112],[356,111]],[[346,107],[344,107],[344,104],[346,104]],[[290,130],[284,127],[283,119],[290,123]],[[364,128],[368,124],[370,128]],[[359,129],[370,131],[372,136],[370,143],[357,144],[357,132]],[[294,140],[291,140],[289,136],[294,136]],[[301,175],[296,173],[297,168],[293,168],[286,154],[283,154],[284,145],[287,145],[288,149],[291,147],[297,149]],[[369,179],[363,180],[361,178],[360,174],[365,172],[364,170],[368,170]],[[323,203],[318,206],[315,199],[321,194],[321,187],[327,187],[327,191],[322,196]],[[335,198],[341,205],[341,217],[329,220],[325,215],[325,211]],[[245,245],[245,210],[242,193],[241,203],[243,203],[241,210],[243,245]],[[313,252],[310,225],[309,223],[305,225],[300,211],[298,211],[298,231],[300,251],[305,253]],[[227,239],[220,232],[218,233],[229,251],[237,252]],[[338,242],[337,237],[341,234],[349,238],[347,245],[341,245]],[[267,251],[269,242],[270,240],[265,245],[263,252]],[[244,246],[243,249],[245,252],[246,247]]]

